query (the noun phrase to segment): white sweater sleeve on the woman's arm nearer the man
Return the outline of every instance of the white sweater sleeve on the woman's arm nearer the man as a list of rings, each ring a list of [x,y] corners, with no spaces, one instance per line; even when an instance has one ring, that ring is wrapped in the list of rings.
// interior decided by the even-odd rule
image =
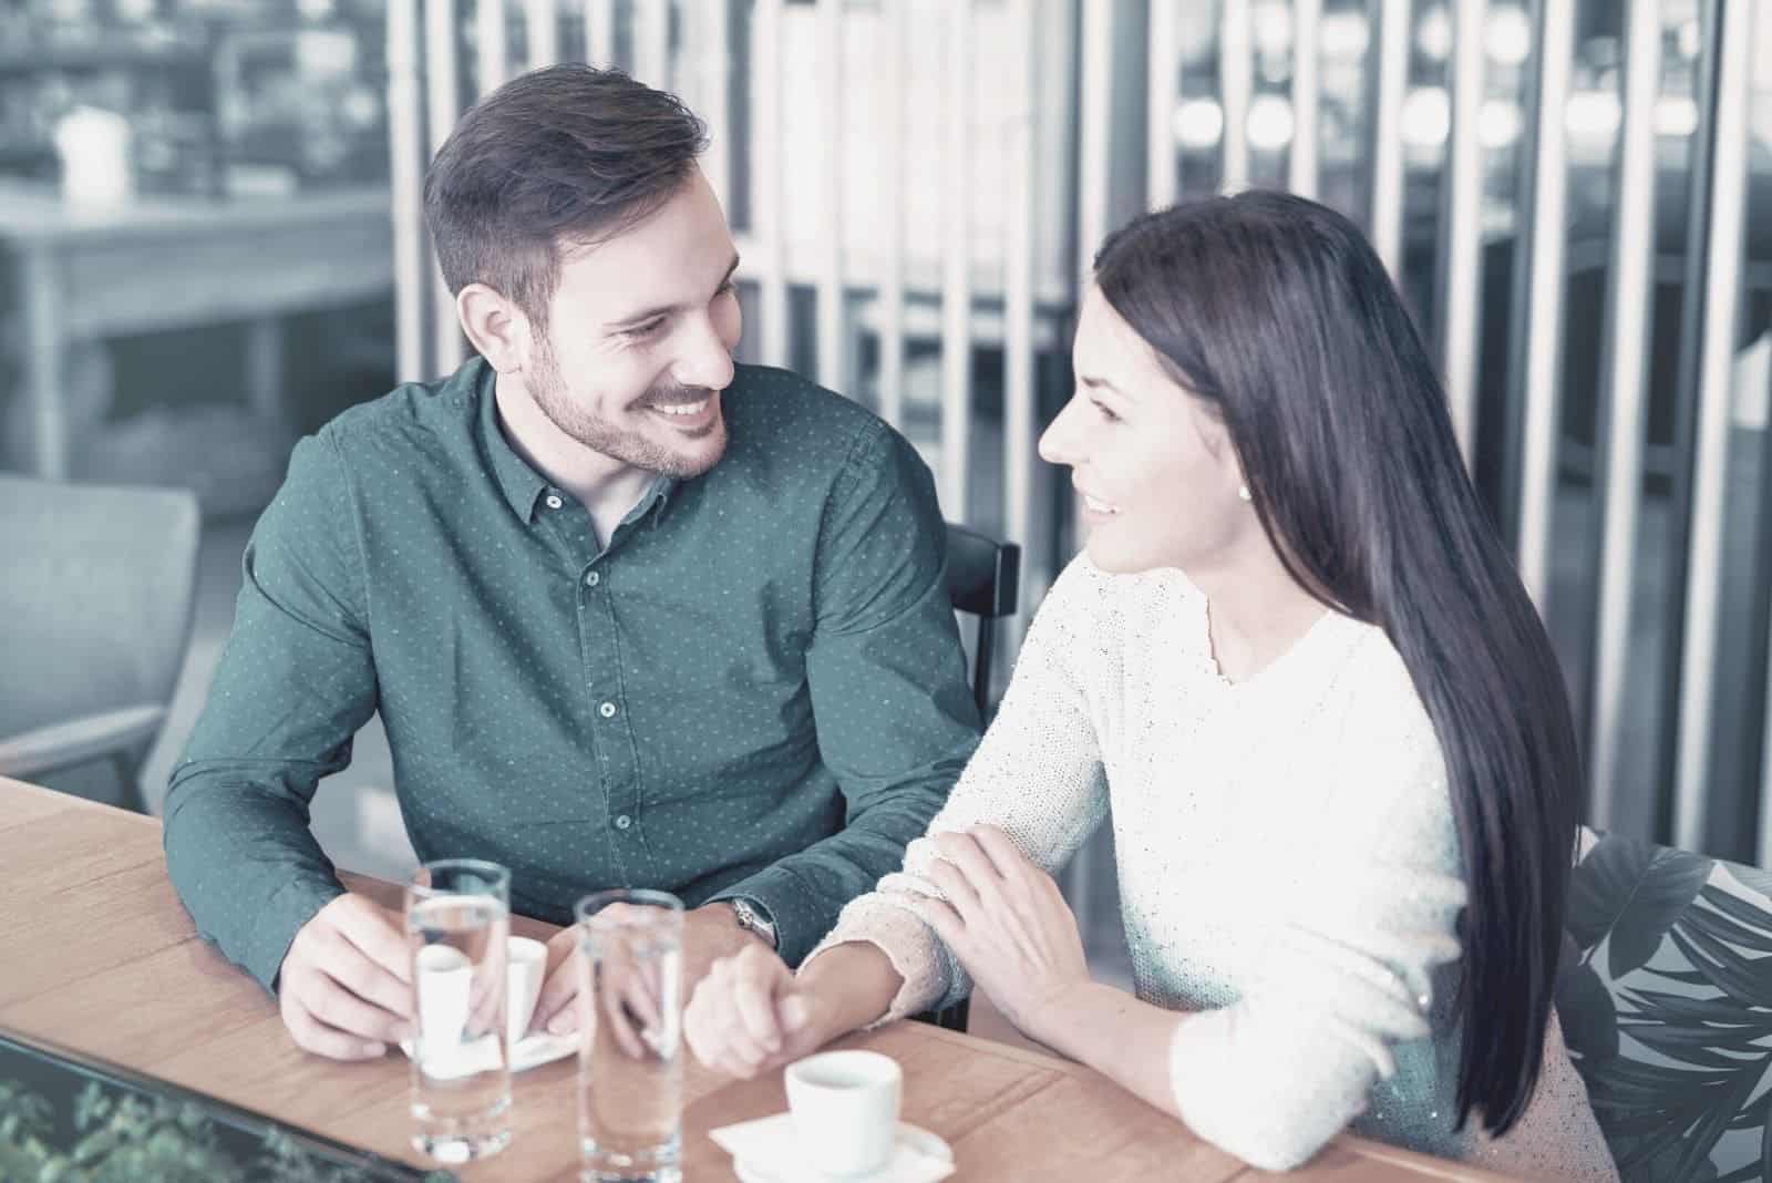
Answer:
[[[847,942],[882,949],[904,985],[881,1024],[952,1006],[971,992],[971,979],[952,951],[907,907],[918,894],[941,898],[927,877],[937,857],[932,836],[991,823],[1031,862],[1056,873],[1106,816],[1108,785],[1086,694],[1086,653],[1099,645],[1092,634],[1102,595],[1102,579],[1086,558],[1065,568],[1028,629],[996,721],[946,806],[929,832],[905,848],[904,870],[852,900],[806,958],[810,965]]]

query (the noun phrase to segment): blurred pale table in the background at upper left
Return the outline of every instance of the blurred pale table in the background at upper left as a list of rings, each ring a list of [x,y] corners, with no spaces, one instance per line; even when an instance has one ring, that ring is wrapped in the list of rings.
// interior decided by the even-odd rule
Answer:
[[[393,289],[385,188],[292,197],[147,197],[76,207],[57,189],[0,182],[0,246],[14,257],[35,471],[67,476],[67,345],[124,333],[246,322],[248,404],[275,416],[291,312]]]

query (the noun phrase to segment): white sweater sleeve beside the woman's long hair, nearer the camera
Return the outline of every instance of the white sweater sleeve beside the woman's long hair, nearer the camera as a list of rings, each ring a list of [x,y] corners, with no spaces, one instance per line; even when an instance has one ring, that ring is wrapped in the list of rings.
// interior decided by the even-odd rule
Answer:
[[[1432,1036],[1432,972],[1460,956],[1446,767],[1396,673],[1350,707],[1322,841],[1253,985],[1170,1045],[1182,1121],[1267,1171],[1315,1155],[1395,1071],[1391,1048]]]

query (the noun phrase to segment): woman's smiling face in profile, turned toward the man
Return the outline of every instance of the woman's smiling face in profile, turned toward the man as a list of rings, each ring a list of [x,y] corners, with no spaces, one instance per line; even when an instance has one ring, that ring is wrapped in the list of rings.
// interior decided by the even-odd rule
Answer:
[[[1093,285],[1070,360],[1077,388],[1040,437],[1040,457],[1070,468],[1097,567],[1198,572],[1260,531],[1237,496],[1242,475],[1223,421]]]

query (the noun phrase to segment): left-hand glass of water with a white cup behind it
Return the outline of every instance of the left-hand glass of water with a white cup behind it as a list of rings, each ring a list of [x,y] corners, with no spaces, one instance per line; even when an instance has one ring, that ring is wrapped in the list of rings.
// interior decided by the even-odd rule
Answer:
[[[462,1164],[510,1144],[505,946],[510,871],[478,859],[425,862],[406,884],[413,958],[413,1146]]]

